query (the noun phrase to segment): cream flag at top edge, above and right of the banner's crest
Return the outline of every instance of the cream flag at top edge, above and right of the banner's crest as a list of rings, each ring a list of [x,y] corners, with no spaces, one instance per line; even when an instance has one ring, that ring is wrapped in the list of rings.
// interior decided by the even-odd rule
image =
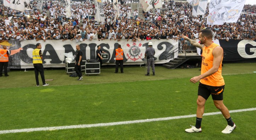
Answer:
[[[140,4],[144,12],[148,12],[153,8],[162,8],[162,0],[140,0]]]

